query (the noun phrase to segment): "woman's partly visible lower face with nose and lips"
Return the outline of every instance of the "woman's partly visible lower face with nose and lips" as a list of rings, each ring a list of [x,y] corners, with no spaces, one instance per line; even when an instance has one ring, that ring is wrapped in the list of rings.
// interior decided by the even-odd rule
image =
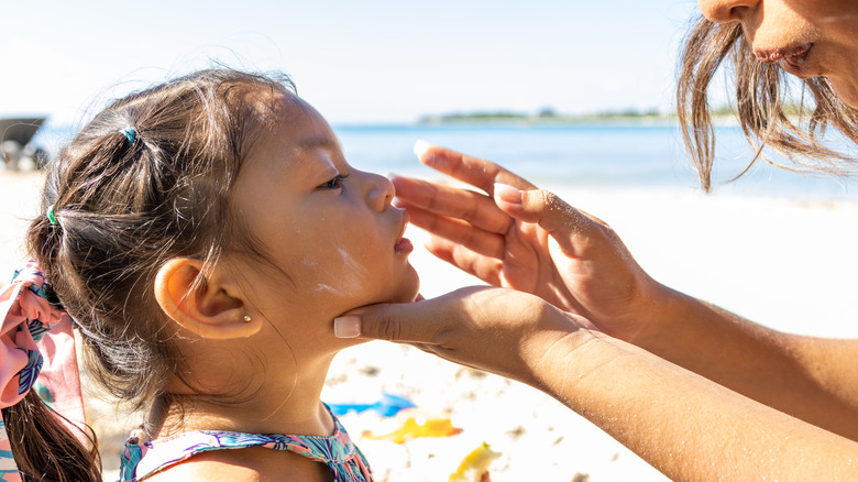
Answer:
[[[798,77],[826,77],[858,108],[858,1],[698,0],[713,22],[741,22],[754,53]]]

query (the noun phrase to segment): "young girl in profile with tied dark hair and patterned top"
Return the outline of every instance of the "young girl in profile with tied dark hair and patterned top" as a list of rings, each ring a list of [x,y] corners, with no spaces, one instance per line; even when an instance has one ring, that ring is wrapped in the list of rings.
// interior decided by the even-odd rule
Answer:
[[[411,302],[394,188],[283,78],[198,72],[63,149],[29,245],[90,370],[148,417],[123,481],[372,480],[319,395],[333,318]]]

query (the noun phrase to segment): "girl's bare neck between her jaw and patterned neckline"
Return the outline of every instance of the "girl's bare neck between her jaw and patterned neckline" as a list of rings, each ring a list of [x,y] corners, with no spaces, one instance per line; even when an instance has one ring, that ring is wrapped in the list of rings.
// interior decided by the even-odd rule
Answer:
[[[194,430],[329,436],[334,424],[320,395],[332,359],[302,360],[297,377],[294,371],[292,376],[266,371],[264,380],[237,394],[235,403],[194,395],[170,397],[175,402],[153,408],[150,415],[153,438]],[[235,385],[234,380],[231,384]]]

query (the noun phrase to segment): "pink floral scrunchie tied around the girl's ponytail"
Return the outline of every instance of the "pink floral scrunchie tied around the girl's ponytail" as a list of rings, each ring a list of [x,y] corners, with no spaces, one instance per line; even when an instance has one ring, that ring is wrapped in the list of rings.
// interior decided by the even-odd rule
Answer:
[[[0,291],[0,408],[36,390],[47,405],[77,425],[72,431],[86,443],[72,318],[48,303],[45,285],[42,270],[31,261]],[[0,481],[20,480],[0,417]]]

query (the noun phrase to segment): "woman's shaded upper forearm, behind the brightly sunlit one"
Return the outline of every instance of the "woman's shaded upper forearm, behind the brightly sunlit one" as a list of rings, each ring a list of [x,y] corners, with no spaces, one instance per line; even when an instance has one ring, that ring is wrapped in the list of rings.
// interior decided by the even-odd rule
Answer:
[[[629,340],[762,404],[858,440],[858,340],[779,332],[676,292]]]

